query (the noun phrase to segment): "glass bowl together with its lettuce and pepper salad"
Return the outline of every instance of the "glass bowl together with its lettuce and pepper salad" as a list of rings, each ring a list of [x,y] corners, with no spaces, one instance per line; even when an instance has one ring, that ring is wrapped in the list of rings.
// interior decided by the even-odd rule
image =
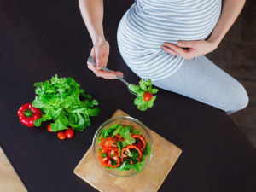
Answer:
[[[152,158],[153,148],[148,128],[126,116],[109,119],[93,138],[98,165],[114,177],[131,177],[142,172]]]

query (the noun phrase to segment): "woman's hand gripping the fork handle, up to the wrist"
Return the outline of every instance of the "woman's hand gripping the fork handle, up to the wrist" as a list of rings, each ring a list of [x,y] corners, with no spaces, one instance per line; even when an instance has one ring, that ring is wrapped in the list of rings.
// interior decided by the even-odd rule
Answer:
[[[96,61],[96,66],[87,62],[88,68],[96,74],[97,77],[102,77],[104,79],[116,79],[116,75],[123,78],[124,74],[121,72],[105,72],[102,71],[103,66],[107,66],[109,55],[109,44],[106,40],[99,40],[90,51],[90,56],[92,56]]]

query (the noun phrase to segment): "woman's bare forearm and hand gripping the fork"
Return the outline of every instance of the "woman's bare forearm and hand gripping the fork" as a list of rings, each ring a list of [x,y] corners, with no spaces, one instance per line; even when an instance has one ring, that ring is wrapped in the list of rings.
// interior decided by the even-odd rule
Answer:
[[[116,79],[116,75],[123,77],[121,72],[104,72],[101,70],[103,66],[107,66],[109,55],[109,44],[104,37],[102,26],[103,0],[79,0],[79,7],[93,43],[90,55],[95,58],[97,65],[94,67],[87,62],[88,68],[97,77],[106,79]]]

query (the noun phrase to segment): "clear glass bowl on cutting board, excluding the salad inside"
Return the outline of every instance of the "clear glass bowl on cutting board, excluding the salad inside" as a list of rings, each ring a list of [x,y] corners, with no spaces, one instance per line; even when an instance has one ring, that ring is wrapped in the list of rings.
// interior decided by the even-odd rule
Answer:
[[[110,175],[110,176],[113,176],[113,177],[131,177],[131,176],[137,175],[137,173],[139,173],[139,172],[136,172],[133,169],[130,169],[129,171],[124,170],[122,172],[119,172],[118,169],[108,169],[108,168],[102,166],[101,161],[98,158],[99,148],[102,148],[100,143],[98,143],[98,139],[100,139],[102,137],[102,131],[103,130],[108,129],[110,126],[115,125],[115,124],[133,125],[138,131],[142,132],[143,137],[145,137],[146,143],[148,143],[149,146],[151,147],[151,153],[147,155],[147,157],[144,161],[144,164],[143,164],[143,168],[139,172],[142,172],[143,169],[148,165],[149,161],[152,159],[154,144],[153,144],[151,134],[148,131],[148,128],[145,125],[143,125],[143,123],[140,122],[137,119],[127,117],[127,116],[120,116],[120,117],[115,117],[115,118],[112,118],[112,119],[108,119],[96,131],[96,134],[94,135],[93,141],[92,141],[93,153],[94,153],[94,156],[95,156],[95,160],[96,160],[98,166],[100,166],[102,168],[102,170],[104,172],[107,172],[108,175]]]

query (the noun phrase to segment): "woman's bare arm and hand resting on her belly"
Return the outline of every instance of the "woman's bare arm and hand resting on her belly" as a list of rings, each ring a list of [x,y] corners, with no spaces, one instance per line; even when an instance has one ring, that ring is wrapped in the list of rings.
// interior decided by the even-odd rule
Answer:
[[[207,40],[201,41],[178,41],[177,46],[165,43],[161,48],[172,55],[185,59],[192,59],[196,56],[205,55],[218,47],[224,35],[230,30],[241,12],[246,0],[223,0],[222,11],[218,23]],[[189,49],[182,49],[189,48]]]

